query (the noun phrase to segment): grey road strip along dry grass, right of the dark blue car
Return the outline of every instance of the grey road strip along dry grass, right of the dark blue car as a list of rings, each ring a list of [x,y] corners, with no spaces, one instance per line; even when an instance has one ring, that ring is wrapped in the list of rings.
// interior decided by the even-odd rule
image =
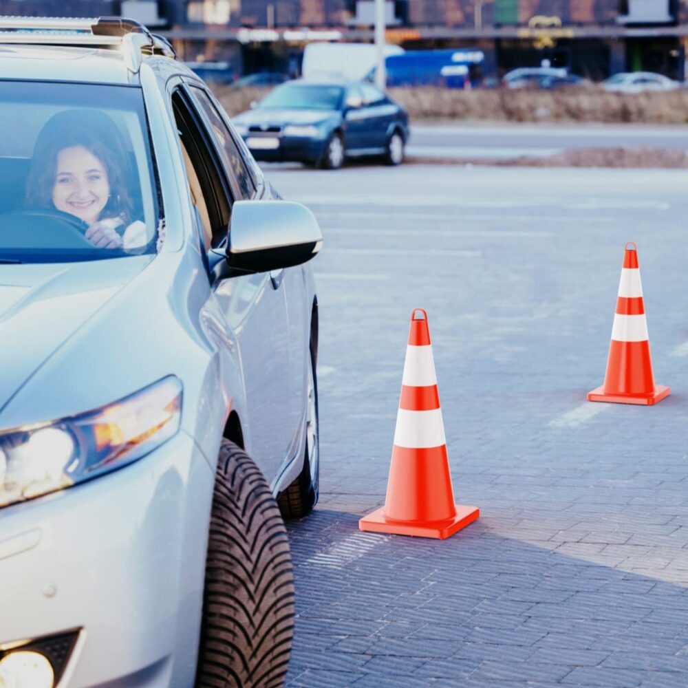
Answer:
[[[688,127],[604,124],[442,124],[411,122],[408,155],[418,158],[541,157],[581,148],[688,151]]]

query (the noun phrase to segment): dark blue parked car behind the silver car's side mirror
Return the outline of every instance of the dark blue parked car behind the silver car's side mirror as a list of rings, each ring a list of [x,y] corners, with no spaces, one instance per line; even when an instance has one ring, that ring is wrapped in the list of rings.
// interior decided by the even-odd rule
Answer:
[[[400,105],[369,83],[294,80],[275,88],[234,125],[257,160],[341,167],[345,158],[383,155],[398,165],[409,138]]]

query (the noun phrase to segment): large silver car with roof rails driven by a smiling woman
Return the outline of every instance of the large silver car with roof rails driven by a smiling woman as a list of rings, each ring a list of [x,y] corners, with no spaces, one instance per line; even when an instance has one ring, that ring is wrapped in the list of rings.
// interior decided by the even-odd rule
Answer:
[[[281,685],[319,226],[136,22],[0,43],[0,687]]]

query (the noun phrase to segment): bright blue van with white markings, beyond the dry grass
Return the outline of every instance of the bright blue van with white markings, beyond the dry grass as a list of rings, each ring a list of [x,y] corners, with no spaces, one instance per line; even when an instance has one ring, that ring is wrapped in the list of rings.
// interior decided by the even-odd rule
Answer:
[[[408,50],[385,59],[387,86],[468,88],[480,82],[482,50]],[[374,81],[373,68],[367,80]]]

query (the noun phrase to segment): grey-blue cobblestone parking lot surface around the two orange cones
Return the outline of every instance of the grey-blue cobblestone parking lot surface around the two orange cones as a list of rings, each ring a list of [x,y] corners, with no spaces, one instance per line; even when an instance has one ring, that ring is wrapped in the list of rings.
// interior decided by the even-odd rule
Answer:
[[[290,687],[688,686],[688,175],[272,169],[323,226],[321,499],[290,525]],[[595,405],[625,241],[656,407]],[[374,535],[411,310],[427,309],[447,541]]]

